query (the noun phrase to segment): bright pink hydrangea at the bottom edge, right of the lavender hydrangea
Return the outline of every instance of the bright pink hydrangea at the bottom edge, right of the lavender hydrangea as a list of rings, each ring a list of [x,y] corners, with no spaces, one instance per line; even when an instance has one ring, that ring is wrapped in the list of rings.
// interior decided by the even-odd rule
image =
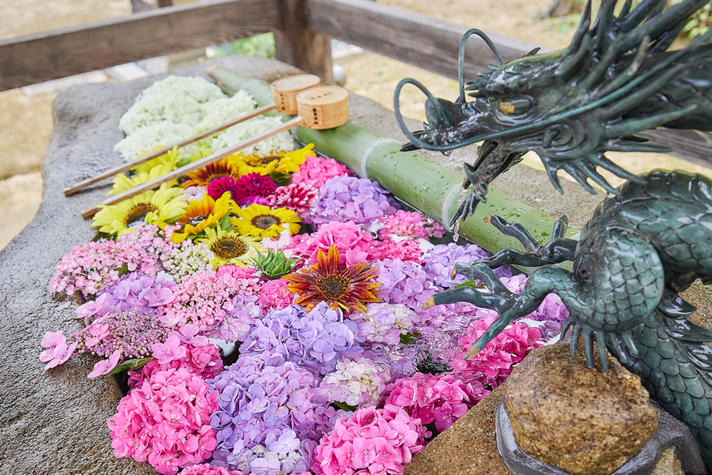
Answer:
[[[400,407],[365,407],[341,418],[314,451],[315,475],[402,474],[429,432]]]

